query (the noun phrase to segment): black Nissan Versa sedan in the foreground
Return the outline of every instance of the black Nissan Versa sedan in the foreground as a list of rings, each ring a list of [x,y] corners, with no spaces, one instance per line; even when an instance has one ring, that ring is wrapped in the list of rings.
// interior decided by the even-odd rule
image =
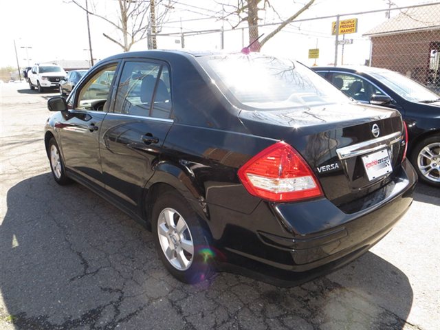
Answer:
[[[412,203],[399,112],[353,102],[295,61],[129,52],[48,107],[55,181],[144,223],[186,283],[215,270],[303,283],[369,250]]]

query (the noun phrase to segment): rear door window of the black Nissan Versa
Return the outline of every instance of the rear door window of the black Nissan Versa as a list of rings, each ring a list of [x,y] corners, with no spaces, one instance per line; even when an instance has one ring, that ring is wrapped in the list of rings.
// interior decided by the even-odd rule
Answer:
[[[171,98],[168,68],[158,63],[126,62],[118,85],[114,111],[169,118]]]

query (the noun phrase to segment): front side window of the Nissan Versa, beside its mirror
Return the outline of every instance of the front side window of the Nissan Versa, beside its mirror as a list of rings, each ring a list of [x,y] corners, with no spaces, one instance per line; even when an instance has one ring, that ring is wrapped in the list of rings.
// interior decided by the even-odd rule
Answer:
[[[114,64],[100,69],[78,90],[76,109],[95,111],[104,109],[116,67],[117,65]]]

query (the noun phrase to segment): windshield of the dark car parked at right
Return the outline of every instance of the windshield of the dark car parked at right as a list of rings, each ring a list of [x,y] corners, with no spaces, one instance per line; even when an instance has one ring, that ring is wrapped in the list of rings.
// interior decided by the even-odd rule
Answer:
[[[412,102],[434,102],[439,95],[423,87],[415,80],[397,72],[374,72],[371,76],[380,80],[402,98]]]

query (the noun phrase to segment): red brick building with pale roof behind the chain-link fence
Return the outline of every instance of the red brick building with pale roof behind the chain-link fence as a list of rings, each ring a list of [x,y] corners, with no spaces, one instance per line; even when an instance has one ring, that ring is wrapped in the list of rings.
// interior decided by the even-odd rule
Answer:
[[[402,11],[364,36],[371,39],[371,66],[440,85],[440,5]]]

